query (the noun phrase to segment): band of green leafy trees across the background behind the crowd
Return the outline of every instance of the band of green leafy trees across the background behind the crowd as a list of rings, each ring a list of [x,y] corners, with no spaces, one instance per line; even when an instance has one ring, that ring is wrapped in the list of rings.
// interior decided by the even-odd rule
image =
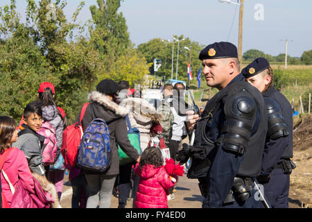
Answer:
[[[122,0],[97,0],[89,8],[92,19],[84,24],[79,24],[77,17],[85,1],[80,2],[71,21],[64,15],[67,0],[25,1],[25,22],[16,10],[16,0],[0,7],[0,114],[19,121],[43,81],[55,85],[58,105],[71,122],[87,94],[104,78],[128,80],[132,87],[142,84],[148,74],[166,80],[177,74],[178,79],[187,80],[190,62],[196,80],[201,65],[198,53],[205,46],[174,35],[179,42],[155,38],[136,47],[119,12]],[[244,59],[263,56],[259,52],[247,51]],[[311,64],[311,54],[304,53],[300,62]],[[263,57],[275,59],[266,54]],[[162,60],[157,71],[155,59]]]

